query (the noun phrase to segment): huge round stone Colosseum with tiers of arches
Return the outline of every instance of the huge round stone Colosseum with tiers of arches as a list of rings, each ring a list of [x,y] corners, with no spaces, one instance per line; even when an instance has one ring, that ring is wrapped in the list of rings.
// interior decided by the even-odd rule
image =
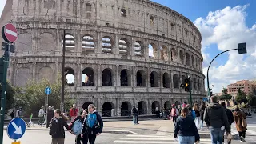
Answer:
[[[180,88],[188,76],[193,101],[205,95],[198,28],[156,2],[8,0],[0,24],[7,22],[18,28],[8,70],[14,86],[57,77],[66,30],[67,90],[79,107],[94,103],[103,116],[125,116],[135,105],[154,114],[188,101]]]

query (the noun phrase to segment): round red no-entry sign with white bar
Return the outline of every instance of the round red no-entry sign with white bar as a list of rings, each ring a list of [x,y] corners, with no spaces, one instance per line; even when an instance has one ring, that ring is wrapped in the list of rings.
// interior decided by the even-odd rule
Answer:
[[[2,27],[2,37],[6,42],[15,42],[18,38],[17,29],[13,24],[7,23]]]

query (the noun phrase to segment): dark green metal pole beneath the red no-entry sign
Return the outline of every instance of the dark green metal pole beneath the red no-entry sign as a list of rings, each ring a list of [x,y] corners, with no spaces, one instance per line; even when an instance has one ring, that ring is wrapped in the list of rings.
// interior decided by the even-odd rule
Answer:
[[[8,43],[8,49],[5,50],[3,55],[3,78],[2,78],[2,98],[1,98],[1,121],[0,121],[0,144],[3,141],[3,126],[5,120],[5,110],[6,110],[6,78],[7,78],[7,67],[9,62],[9,51],[11,43]]]

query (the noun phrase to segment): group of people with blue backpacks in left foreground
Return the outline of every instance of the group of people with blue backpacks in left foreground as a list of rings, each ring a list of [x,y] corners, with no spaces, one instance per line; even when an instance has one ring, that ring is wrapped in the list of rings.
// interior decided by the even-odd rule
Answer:
[[[73,109],[76,109],[75,106]],[[51,119],[49,132],[52,144],[64,144],[64,127],[76,136],[76,144],[81,144],[81,142],[94,144],[96,137],[102,133],[103,129],[102,117],[96,111],[96,107],[90,104],[88,110],[83,110],[82,114],[72,119],[73,121],[68,126],[66,116],[61,114],[60,110],[54,110],[54,118]]]

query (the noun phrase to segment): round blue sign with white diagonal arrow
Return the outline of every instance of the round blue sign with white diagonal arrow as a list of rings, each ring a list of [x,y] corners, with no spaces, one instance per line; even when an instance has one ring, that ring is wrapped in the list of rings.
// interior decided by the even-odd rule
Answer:
[[[7,126],[7,134],[10,139],[17,140],[22,138],[26,131],[26,123],[22,118],[14,118]]]

